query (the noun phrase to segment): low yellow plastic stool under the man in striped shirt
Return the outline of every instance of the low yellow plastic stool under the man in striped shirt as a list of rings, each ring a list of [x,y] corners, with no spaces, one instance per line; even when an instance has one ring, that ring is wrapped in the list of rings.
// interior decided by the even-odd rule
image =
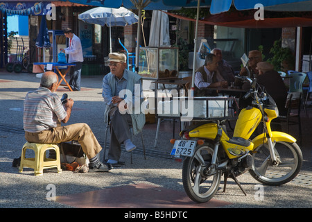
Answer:
[[[33,150],[35,152],[35,158],[26,158],[26,151]],[[46,151],[54,150],[56,153],[56,159],[46,158]],[[23,172],[24,167],[34,169],[35,176],[42,176],[43,169],[58,168],[58,173],[62,173],[60,166],[60,148],[56,144],[24,144],[21,150],[21,164],[19,166],[19,173]]]

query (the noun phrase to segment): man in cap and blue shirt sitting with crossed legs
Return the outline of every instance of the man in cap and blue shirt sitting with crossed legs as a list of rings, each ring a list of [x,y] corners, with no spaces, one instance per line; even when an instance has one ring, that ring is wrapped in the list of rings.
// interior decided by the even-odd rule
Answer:
[[[130,130],[139,133],[145,124],[145,114],[141,112],[141,76],[125,69],[126,56],[123,53],[110,53],[108,61],[110,73],[103,78],[103,98],[105,102],[105,122],[110,122],[110,151],[107,164],[121,167],[119,161],[121,144],[125,150],[133,151],[136,146],[130,140]]]

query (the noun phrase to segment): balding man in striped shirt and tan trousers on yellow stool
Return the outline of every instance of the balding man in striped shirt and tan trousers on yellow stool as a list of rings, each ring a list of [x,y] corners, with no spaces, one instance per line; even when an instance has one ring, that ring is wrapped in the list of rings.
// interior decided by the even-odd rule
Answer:
[[[110,166],[98,160],[102,147],[86,123],[67,123],[71,116],[73,100],[67,99],[62,105],[60,97],[55,94],[58,76],[53,71],[42,75],[40,87],[28,92],[24,101],[24,130],[28,142],[40,144],[59,144],[76,140],[89,158],[89,172],[109,171]]]

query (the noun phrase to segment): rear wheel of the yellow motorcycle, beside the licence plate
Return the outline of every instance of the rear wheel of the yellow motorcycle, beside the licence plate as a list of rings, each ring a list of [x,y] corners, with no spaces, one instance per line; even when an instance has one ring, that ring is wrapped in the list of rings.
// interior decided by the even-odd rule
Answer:
[[[221,171],[209,173],[213,154],[214,148],[203,144],[197,146],[194,155],[187,157],[183,162],[183,187],[187,196],[196,203],[209,201],[218,191]]]

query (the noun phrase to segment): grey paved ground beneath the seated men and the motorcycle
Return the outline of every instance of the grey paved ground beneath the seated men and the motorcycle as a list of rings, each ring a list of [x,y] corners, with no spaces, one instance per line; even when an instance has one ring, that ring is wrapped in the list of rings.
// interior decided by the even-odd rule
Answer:
[[[82,91],[68,92],[61,86],[57,93],[62,96],[67,92],[75,101],[68,124],[88,123],[103,145],[105,126],[103,124],[104,104],[101,97],[102,78],[103,76],[84,76]],[[220,189],[210,203],[198,205],[189,200],[182,187],[182,162],[172,160],[168,155],[172,147],[169,143],[172,137],[172,123],[169,121],[161,124],[156,148],[153,147],[156,124],[145,126],[144,144],[147,149],[147,160],[144,160],[141,153],[140,138],[135,137],[135,143],[139,148],[133,153],[134,163],[130,164],[130,155],[123,153],[121,159],[126,162],[126,165],[119,169],[112,169],[110,173],[72,173],[71,171],[55,173],[53,169],[45,171],[40,177],[33,176],[32,169],[24,169],[23,173],[19,173],[17,168],[12,167],[12,160],[20,156],[21,147],[25,142],[21,109],[26,92],[36,89],[39,82],[40,79],[36,78],[35,74],[8,74],[0,70],[0,207],[312,207],[310,130],[312,121],[306,118],[305,114],[302,114],[304,129],[302,171],[294,181],[286,185],[264,186],[263,200],[256,200],[259,183],[249,173],[238,178],[248,196],[244,196],[239,187],[229,180],[226,193]],[[312,117],[311,109],[308,111]],[[175,126],[177,126],[175,132],[177,136],[178,123]],[[297,126],[291,128],[290,134],[297,137]],[[53,188],[57,198],[49,200]],[[146,191],[157,191],[157,194],[152,195]],[[140,195],[141,198],[135,198],[133,194]],[[111,200],[107,200],[107,196]],[[107,202],[112,205],[107,205]]]

